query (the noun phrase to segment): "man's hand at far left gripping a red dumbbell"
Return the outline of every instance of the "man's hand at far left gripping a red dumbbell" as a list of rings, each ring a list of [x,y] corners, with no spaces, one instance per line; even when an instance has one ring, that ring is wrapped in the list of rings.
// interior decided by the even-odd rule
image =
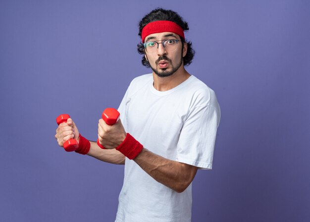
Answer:
[[[55,138],[59,146],[63,147],[63,143],[69,139],[76,139],[79,143],[79,130],[71,118],[67,122],[60,123],[56,129]]]

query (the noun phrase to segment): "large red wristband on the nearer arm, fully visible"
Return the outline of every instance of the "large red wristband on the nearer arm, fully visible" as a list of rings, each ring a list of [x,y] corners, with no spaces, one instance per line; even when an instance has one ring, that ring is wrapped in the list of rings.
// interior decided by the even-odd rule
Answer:
[[[133,138],[132,135],[127,133],[124,141],[115,149],[124,154],[129,160],[132,160],[140,154],[143,145]]]

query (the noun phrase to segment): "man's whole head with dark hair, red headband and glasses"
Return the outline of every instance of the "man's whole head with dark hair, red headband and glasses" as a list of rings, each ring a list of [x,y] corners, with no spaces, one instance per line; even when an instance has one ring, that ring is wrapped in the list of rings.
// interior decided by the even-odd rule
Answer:
[[[189,65],[195,52],[192,43],[185,42],[187,30],[187,22],[172,10],[157,8],[145,15],[139,23],[142,64],[160,77],[172,75],[182,64]]]

